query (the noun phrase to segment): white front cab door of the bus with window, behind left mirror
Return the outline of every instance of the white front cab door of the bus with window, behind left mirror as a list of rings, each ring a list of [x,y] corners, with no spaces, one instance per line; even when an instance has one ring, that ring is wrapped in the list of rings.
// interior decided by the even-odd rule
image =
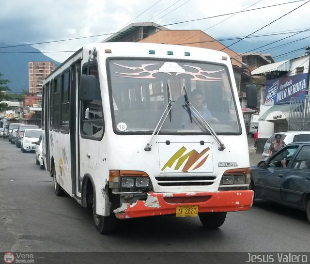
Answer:
[[[83,67],[82,73],[87,73],[87,67]],[[100,141],[103,138],[104,122],[103,109],[100,94],[100,84],[95,62],[90,64],[89,73],[96,78],[96,88],[93,101],[79,100],[79,133],[78,133],[78,191],[81,192],[81,180],[85,174],[93,179],[99,175]]]

